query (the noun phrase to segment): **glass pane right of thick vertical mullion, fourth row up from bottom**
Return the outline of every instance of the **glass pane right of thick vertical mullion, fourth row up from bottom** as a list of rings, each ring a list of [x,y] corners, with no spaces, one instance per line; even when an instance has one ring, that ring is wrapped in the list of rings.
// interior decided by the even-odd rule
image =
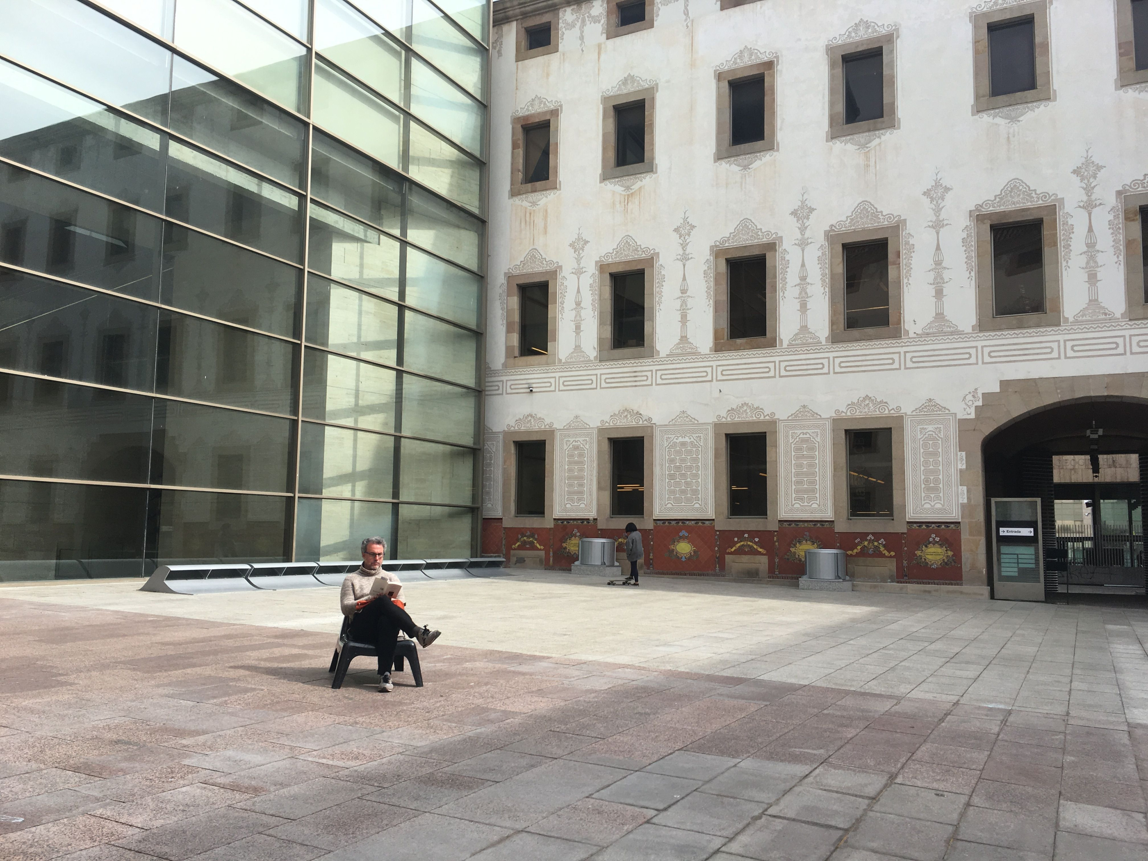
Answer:
[[[311,276],[307,282],[307,341],[394,365],[398,360],[398,307]]]

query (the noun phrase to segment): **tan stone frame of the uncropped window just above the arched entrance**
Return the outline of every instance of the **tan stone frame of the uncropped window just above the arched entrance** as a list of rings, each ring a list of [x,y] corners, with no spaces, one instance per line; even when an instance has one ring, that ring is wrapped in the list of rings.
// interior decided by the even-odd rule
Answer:
[[[1008,317],[993,316],[993,236],[994,224],[1014,222],[1044,222],[1045,238],[1045,312],[1019,313]],[[1004,329],[1060,326],[1063,320],[1061,284],[1060,205],[1047,203],[1039,207],[1002,209],[978,212],[974,219],[976,243],[977,282],[977,332],[1001,332]]]

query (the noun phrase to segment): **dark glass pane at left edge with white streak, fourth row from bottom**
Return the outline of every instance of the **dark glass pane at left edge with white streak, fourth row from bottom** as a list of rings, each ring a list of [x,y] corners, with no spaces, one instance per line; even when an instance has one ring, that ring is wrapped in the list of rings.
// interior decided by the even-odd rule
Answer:
[[[0,170],[0,262],[156,295],[161,222],[15,166]]]

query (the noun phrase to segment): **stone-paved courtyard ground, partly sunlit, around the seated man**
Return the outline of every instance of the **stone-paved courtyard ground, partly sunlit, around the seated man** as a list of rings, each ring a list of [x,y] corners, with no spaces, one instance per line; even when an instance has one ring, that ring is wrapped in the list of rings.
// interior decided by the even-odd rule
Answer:
[[[379,693],[335,589],[139,585],[0,589],[6,861],[1148,861],[1143,610],[427,581]]]

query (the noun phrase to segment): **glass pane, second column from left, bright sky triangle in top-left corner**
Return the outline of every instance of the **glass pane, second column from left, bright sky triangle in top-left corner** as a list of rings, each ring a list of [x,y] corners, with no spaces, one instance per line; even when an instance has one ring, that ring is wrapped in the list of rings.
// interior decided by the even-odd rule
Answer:
[[[271,102],[176,57],[171,127],[192,140],[295,186],[303,185],[303,123]]]

